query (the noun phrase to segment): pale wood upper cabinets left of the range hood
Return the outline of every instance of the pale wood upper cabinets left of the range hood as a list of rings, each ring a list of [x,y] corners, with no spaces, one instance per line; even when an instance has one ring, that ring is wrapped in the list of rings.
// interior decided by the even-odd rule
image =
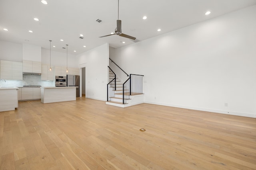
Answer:
[[[14,61],[0,61],[0,78],[6,80],[22,80],[22,63]]]

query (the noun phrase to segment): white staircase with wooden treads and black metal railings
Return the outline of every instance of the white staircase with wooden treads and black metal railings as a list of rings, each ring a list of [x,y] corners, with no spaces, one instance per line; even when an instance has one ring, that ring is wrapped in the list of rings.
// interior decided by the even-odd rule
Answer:
[[[142,93],[143,75],[130,74],[129,76],[127,74],[128,79],[126,82],[122,82],[109,66],[108,69],[109,83],[107,85],[108,96],[106,104],[118,107],[129,107],[144,103],[144,94]]]

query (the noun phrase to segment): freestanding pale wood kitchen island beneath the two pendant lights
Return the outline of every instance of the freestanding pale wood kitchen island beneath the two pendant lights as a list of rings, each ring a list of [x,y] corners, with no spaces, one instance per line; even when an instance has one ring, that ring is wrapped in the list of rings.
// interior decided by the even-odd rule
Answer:
[[[54,103],[76,100],[76,87],[41,87],[41,102]]]

